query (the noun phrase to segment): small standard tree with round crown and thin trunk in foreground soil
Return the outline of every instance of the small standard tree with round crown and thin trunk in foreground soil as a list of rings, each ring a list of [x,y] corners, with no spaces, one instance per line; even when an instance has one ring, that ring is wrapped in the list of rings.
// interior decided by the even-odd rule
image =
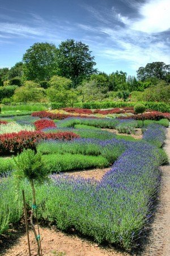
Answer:
[[[42,160],[41,154],[36,154],[35,151],[28,149],[24,150],[22,154],[16,156],[14,158],[15,162],[15,171],[14,176],[16,180],[19,179],[27,179],[32,188],[32,210],[31,210],[31,226],[33,229],[33,233],[35,234],[35,238],[37,241],[37,254],[39,256],[42,255],[41,251],[41,241],[40,241],[40,232],[39,232],[39,224],[37,220],[37,205],[36,205],[36,192],[34,183],[43,183],[46,179],[48,179],[49,173],[46,172],[44,165],[45,162]],[[33,214],[36,213],[38,234],[36,232],[35,226],[33,224]]]

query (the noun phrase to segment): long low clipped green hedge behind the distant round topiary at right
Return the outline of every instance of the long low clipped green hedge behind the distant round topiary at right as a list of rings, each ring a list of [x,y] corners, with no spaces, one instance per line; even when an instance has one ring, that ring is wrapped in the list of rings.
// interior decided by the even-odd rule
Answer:
[[[170,105],[164,102],[124,102],[124,101],[96,101],[96,102],[78,102],[74,104],[76,108],[83,109],[107,109],[134,106],[137,103],[144,104],[147,109],[157,110],[160,112],[170,112]]]

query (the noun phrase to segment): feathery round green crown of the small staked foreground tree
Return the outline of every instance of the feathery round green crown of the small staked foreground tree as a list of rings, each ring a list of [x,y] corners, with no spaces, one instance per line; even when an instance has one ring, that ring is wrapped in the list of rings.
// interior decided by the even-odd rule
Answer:
[[[33,150],[24,150],[14,158],[16,179],[36,180],[42,182],[47,179],[49,170],[45,169],[45,162],[41,154],[36,154]]]

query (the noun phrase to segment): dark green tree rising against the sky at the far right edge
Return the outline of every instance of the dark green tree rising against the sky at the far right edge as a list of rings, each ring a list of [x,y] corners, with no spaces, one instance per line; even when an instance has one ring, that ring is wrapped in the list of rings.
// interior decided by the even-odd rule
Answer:
[[[170,65],[166,65],[164,62],[152,62],[148,63],[146,67],[140,67],[137,70],[138,80],[145,81],[150,77],[157,78],[159,80],[167,80],[170,75]]]

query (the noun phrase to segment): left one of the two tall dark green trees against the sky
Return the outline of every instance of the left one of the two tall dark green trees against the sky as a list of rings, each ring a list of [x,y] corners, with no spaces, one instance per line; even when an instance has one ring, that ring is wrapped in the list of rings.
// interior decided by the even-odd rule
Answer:
[[[57,48],[54,44],[35,43],[23,55],[25,80],[46,81],[57,73]]]

